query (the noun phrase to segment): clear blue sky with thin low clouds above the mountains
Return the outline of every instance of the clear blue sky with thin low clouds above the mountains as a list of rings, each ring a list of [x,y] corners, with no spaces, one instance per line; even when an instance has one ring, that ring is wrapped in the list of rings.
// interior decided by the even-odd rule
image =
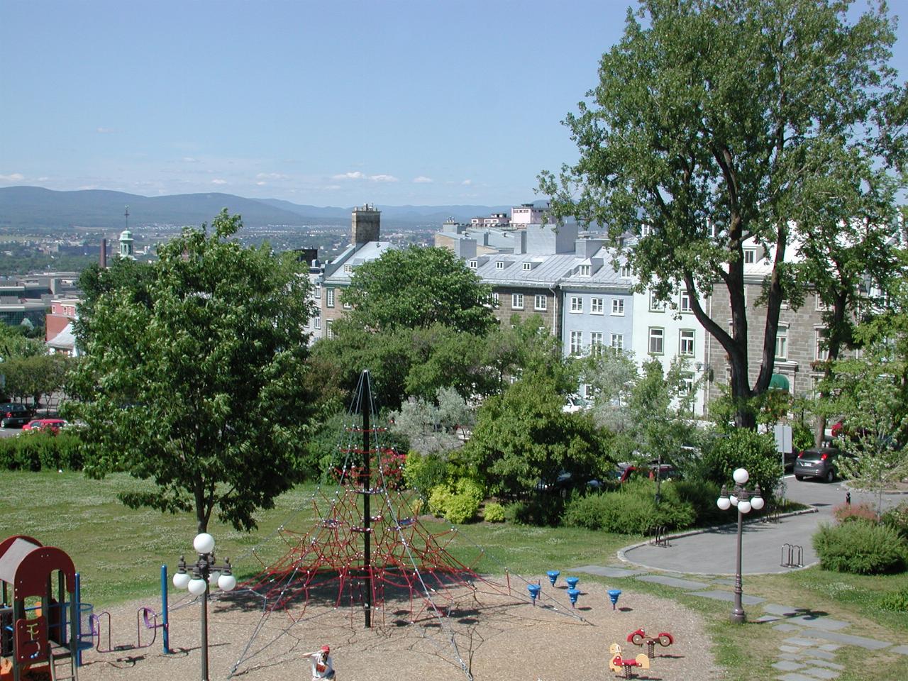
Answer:
[[[531,201],[627,5],[0,0],[0,186]]]

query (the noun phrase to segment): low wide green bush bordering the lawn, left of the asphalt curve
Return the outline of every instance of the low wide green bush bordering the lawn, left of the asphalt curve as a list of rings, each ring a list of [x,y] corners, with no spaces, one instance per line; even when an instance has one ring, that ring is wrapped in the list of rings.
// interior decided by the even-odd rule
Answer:
[[[627,482],[617,492],[572,498],[563,520],[571,527],[624,534],[646,534],[656,525],[677,529],[694,524],[694,505],[680,498],[674,483],[662,484],[658,505],[655,494],[651,480]]]

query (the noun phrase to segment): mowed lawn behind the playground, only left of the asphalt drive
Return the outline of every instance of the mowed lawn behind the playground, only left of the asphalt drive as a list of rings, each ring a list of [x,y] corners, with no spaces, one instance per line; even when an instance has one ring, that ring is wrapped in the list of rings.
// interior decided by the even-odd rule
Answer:
[[[82,574],[84,600],[96,606],[160,598],[161,565],[170,574],[177,558],[193,559],[192,514],[171,515],[150,508],[126,508],[123,491],[150,484],[114,474],[103,480],[81,473],[0,472],[0,539],[27,535],[63,548]],[[257,514],[259,528],[239,532],[214,519],[209,532],[218,557],[230,557],[237,577],[249,577],[286,554],[326,514],[336,489],[301,485]],[[478,523],[452,527],[424,519],[459,561],[480,572],[545,577],[548,569],[615,562],[615,552],[634,538],[576,528],[526,528]],[[279,531],[279,528],[283,528]]]

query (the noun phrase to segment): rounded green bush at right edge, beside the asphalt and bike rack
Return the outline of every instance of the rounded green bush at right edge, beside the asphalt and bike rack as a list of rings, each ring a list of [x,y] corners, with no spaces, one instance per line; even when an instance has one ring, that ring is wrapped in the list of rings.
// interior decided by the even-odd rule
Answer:
[[[904,568],[904,540],[884,525],[867,522],[821,525],[813,541],[820,567],[825,570],[879,575]]]

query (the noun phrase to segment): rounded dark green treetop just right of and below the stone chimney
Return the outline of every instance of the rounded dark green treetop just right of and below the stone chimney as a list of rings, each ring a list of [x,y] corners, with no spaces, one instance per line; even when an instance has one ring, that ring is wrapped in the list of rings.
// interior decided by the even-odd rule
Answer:
[[[350,325],[370,331],[429,328],[485,335],[497,321],[491,289],[453,252],[410,246],[360,265],[341,291]]]

